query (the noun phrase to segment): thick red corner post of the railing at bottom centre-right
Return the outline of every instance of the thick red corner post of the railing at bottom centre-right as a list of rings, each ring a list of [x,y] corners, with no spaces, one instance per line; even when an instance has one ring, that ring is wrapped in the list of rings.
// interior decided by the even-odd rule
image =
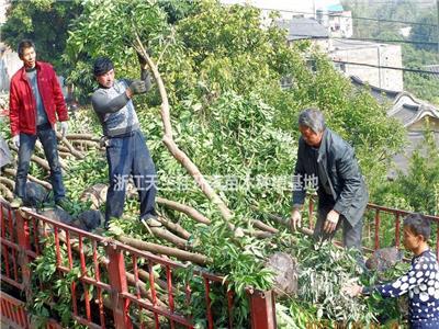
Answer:
[[[275,329],[275,299],[273,291],[249,293],[251,329]]]

